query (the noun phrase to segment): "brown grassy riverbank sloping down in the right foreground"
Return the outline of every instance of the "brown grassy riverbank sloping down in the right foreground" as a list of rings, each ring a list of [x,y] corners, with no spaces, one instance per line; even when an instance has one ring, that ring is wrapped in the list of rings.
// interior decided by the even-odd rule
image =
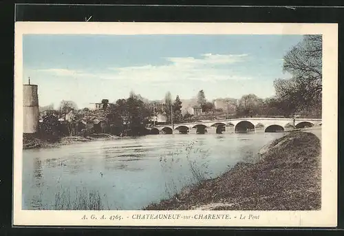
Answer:
[[[292,131],[263,147],[257,162],[182,190],[145,210],[307,211],[321,208],[321,142]]]

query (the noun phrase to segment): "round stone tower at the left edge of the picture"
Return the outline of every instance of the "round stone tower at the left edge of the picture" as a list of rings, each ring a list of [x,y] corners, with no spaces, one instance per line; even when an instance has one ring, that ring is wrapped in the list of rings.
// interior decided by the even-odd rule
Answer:
[[[23,85],[23,133],[39,131],[39,94],[37,85]]]

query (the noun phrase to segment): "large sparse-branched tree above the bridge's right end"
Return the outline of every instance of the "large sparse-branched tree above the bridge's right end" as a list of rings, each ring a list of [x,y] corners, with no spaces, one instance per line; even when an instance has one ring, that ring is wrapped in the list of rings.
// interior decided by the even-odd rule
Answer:
[[[283,72],[292,78],[279,78],[274,86],[277,98],[288,104],[288,114],[321,107],[322,55],[322,36],[306,35],[284,56]]]

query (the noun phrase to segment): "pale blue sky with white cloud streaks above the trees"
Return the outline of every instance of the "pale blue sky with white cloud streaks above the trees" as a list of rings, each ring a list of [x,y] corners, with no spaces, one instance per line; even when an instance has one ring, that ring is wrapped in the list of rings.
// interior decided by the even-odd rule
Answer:
[[[23,36],[23,83],[39,87],[39,105],[72,100],[78,108],[131,91],[149,100],[207,100],[275,94],[283,55],[302,35],[52,35]]]

